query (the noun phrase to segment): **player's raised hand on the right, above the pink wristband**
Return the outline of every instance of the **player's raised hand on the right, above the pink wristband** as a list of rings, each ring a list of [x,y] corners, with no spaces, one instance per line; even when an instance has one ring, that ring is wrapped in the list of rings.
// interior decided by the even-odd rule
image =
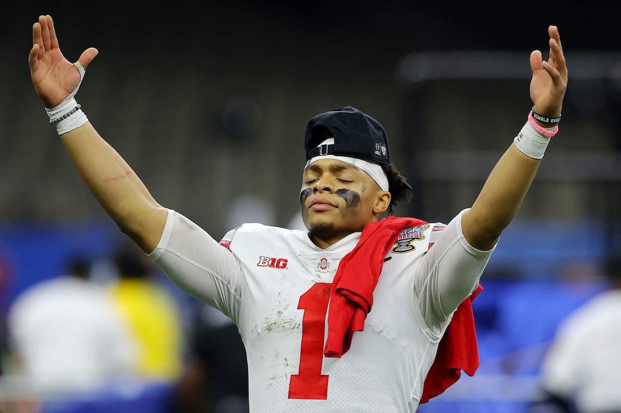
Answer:
[[[542,52],[539,50],[530,53],[530,68],[533,70],[530,99],[533,100],[537,113],[546,117],[558,117],[567,89],[567,66],[558,27],[548,27],[548,34],[550,35],[548,61],[542,60]]]

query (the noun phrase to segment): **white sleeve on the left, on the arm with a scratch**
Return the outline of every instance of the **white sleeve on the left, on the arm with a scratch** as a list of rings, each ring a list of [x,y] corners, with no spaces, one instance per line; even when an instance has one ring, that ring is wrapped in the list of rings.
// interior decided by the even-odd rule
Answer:
[[[168,210],[160,243],[148,255],[181,290],[238,324],[242,264],[204,229]]]

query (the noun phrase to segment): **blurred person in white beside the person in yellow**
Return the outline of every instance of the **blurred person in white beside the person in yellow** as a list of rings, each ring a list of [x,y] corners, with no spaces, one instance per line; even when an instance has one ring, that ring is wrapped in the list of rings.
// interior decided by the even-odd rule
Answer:
[[[109,291],[89,281],[84,259],[18,296],[8,326],[21,373],[43,400],[91,394],[134,376],[132,340]]]

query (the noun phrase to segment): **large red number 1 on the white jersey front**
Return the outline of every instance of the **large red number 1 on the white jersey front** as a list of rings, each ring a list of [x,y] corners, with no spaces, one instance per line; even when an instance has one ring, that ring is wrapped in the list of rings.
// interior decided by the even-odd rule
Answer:
[[[289,399],[327,399],[328,376],[321,374],[324,362],[325,317],[332,284],[317,283],[300,297],[297,309],[302,318],[302,351],[299,374],[291,375]]]

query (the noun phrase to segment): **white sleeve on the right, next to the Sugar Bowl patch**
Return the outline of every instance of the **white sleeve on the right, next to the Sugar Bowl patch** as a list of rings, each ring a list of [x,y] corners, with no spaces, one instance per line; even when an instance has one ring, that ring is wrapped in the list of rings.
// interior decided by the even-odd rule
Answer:
[[[427,326],[440,334],[453,311],[476,290],[481,273],[496,248],[479,251],[461,231],[461,211],[441,231],[422,257],[414,275],[414,290]],[[432,226],[433,236],[433,226]]]

